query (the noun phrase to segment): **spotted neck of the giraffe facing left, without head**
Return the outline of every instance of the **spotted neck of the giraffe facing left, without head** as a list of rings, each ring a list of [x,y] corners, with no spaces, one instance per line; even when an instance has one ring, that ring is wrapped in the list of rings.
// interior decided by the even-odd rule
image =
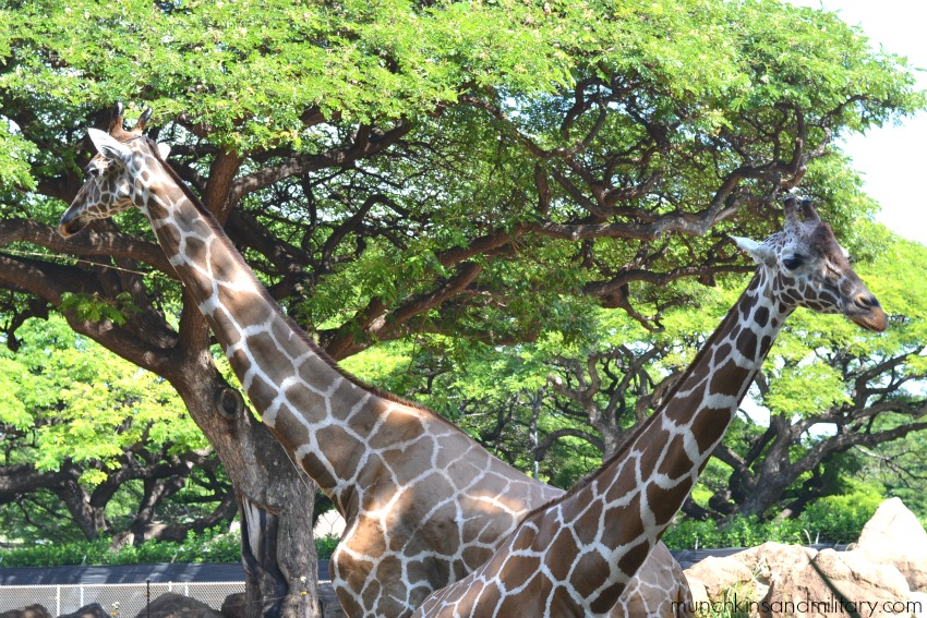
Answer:
[[[167,163],[140,208],[262,421],[345,512],[370,440],[394,412],[424,411],[339,371],[267,294],[219,223]]]

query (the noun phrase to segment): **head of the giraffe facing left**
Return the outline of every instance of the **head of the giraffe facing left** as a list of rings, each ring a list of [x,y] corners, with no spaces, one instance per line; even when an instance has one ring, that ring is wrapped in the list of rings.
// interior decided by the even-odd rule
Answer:
[[[152,156],[152,143],[142,132],[151,116],[152,110],[145,110],[135,128],[125,131],[122,104],[116,104],[108,132],[88,130],[97,155],[84,168],[89,178],[61,217],[58,232],[62,237],[77,233],[94,219],[106,219],[142,205],[146,178],[151,180],[146,160]],[[166,158],[169,148],[164,144],[157,148],[160,158]]]

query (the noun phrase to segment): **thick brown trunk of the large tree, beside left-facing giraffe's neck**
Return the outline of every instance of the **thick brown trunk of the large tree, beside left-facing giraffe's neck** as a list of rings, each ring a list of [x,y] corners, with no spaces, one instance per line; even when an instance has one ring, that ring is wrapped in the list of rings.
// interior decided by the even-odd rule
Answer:
[[[321,616],[312,536],[315,484],[292,463],[239,391],[218,373],[208,348],[190,341],[208,341],[208,330],[195,305],[191,307],[190,301],[184,301],[181,337],[190,344],[183,347],[188,355],[181,371],[170,379],[216,450],[236,492],[241,514],[245,616]],[[191,329],[198,330],[198,337]],[[197,349],[198,353],[193,352]]]

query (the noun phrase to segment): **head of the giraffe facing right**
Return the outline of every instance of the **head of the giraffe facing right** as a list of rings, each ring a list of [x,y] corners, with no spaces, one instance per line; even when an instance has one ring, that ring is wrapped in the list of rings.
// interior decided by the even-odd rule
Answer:
[[[804,306],[819,313],[841,313],[867,330],[881,332],[888,317],[879,301],[859,279],[830,226],[807,199],[790,196],[784,203],[785,229],[765,242],[734,238],[760,266],[771,270],[775,294],[790,308]]]

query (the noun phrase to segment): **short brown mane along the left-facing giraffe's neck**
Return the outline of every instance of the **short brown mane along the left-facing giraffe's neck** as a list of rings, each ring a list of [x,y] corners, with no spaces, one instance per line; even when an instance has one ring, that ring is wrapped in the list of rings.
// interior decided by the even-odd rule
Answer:
[[[216,217],[213,216],[212,213],[209,213],[208,208],[206,208],[206,206],[203,204],[202,199],[200,199],[200,197],[197,197],[196,194],[193,193],[193,191],[186,185],[186,183],[183,182],[183,180],[180,178],[180,174],[177,173],[177,171],[173,169],[173,167],[171,167],[171,165],[169,162],[167,162],[164,159],[164,157],[161,157],[160,150],[158,149],[157,144],[154,142],[154,140],[146,137],[146,136],[135,136],[135,137],[144,137],[145,145],[148,148],[148,150],[151,150],[152,156],[154,156],[155,159],[158,160],[158,162],[161,165],[161,167],[164,167],[165,171],[167,171],[168,175],[170,175],[171,180],[174,181],[174,184],[177,184],[180,187],[180,190],[183,192],[183,194],[186,196],[186,198],[190,199],[190,202],[193,204],[193,206],[200,211],[200,215],[203,217],[203,219],[206,221],[206,223],[213,229],[213,231],[216,232],[216,237],[218,238],[218,240],[221,243],[224,243],[229,250],[231,250],[231,251],[229,251],[229,254],[232,256],[232,258],[234,260],[237,260],[239,266],[243,267],[245,269],[245,271],[249,272],[249,275],[251,277],[254,277],[254,275],[251,275],[251,267],[248,266],[248,264],[244,262],[244,258],[241,256],[241,254],[238,252],[238,250],[236,250],[231,245],[231,241],[226,235],[225,230],[222,229],[222,226],[219,223],[219,221],[216,219]],[[257,289],[260,290],[261,295],[264,298],[264,300],[266,302],[268,302],[273,306],[279,307],[279,303],[277,303],[277,301],[275,301],[270,296],[270,294],[267,292],[267,289],[263,284],[260,284],[260,282],[258,282]],[[392,401],[394,403],[400,403],[402,405],[408,405],[410,408],[414,408],[416,410],[420,410],[422,412],[428,412],[428,413],[432,414],[434,417],[447,423],[452,427],[455,427],[457,431],[459,431],[461,433],[466,433],[462,429],[460,429],[460,427],[458,427],[457,425],[455,425],[454,423],[452,423],[450,421],[448,421],[447,419],[445,419],[444,416],[442,416],[441,414],[438,414],[437,412],[435,412],[431,408],[428,408],[426,405],[423,405],[421,403],[417,403],[414,401],[409,401],[408,399],[399,397],[398,395],[389,392],[388,390],[384,390],[384,389],[378,388],[376,386],[370,385],[370,384],[365,383],[364,380],[360,379],[359,377],[354,376],[350,372],[345,371],[341,366],[338,365],[337,361],[335,361],[335,359],[333,359],[332,355],[328,352],[325,351],[324,348],[318,346],[318,343],[316,343],[312,339],[312,337],[310,337],[309,334],[305,332],[305,330],[303,330],[296,323],[296,320],[293,318],[291,318],[289,315],[285,314],[282,311],[280,312],[280,315],[284,317],[287,325],[293,330],[293,332],[296,332],[296,335],[299,338],[301,338],[318,355],[320,359],[322,359],[328,366],[330,366],[332,368],[334,368],[335,371],[340,373],[342,376],[345,376],[346,379],[350,380],[352,384],[357,385],[359,388],[362,388],[362,389],[366,390],[368,392],[371,392],[372,395],[380,397],[382,399],[385,399],[387,401]]]

